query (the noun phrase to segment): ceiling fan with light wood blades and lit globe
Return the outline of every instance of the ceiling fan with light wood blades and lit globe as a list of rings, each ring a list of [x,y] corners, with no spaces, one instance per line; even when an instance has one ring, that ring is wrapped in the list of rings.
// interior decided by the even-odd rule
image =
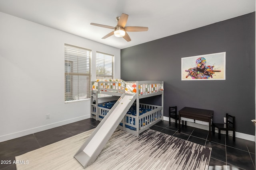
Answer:
[[[102,37],[102,39],[108,38],[111,35],[115,35],[116,37],[123,37],[126,41],[131,41],[131,38],[127,32],[148,31],[148,27],[132,27],[132,26],[126,27],[125,25],[127,20],[128,20],[128,15],[123,13],[120,17],[116,17],[116,21],[117,21],[116,27],[102,25],[98,23],[91,23],[91,25],[114,29],[114,31],[108,33],[107,35]]]

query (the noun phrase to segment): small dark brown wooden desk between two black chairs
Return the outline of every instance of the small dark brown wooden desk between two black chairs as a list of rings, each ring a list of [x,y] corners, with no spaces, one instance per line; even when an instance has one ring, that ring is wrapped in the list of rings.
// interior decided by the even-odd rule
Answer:
[[[197,109],[192,107],[184,107],[179,110],[179,133],[180,133],[180,118],[186,117],[190,119],[209,122],[209,141],[211,141],[211,121],[213,119],[213,111],[205,109]]]

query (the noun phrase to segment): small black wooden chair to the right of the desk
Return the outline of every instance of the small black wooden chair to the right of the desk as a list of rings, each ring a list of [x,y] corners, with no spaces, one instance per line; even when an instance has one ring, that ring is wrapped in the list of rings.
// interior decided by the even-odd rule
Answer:
[[[215,133],[215,127],[218,129],[218,138],[220,139],[220,131],[233,131],[233,141],[236,141],[236,117],[226,113],[226,123],[212,123],[212,133]]]

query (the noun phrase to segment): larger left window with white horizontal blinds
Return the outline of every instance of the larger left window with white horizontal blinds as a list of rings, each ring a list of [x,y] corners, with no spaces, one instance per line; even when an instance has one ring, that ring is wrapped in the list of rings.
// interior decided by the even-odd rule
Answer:
[[[65,102],[90,98],[92,51],[65,44]]]

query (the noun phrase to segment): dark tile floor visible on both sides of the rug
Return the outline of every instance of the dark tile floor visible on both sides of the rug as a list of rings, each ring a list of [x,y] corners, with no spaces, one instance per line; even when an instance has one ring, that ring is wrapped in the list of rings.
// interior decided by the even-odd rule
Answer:
[[[0,143],[0,170],[16,170],[15,164],[2,164],[2,160],[13,162],[15,156],[24,154],[31,150],[44,147],[73,135],[95,128],[99,121],[85,119],[68,125],[63,125],[46,131],[34,133],[24,137],[4,141]],[[207,140],[208,131],[194,127],[182,127],[181,133],[172,123],[161,121],[151,127],[156,131],[182,138],[206,147],[212,148],[209,170],[255,170],[255,143],[244,139],[222,135],[221,140],[218,134],[212,136],[212,142]]]

